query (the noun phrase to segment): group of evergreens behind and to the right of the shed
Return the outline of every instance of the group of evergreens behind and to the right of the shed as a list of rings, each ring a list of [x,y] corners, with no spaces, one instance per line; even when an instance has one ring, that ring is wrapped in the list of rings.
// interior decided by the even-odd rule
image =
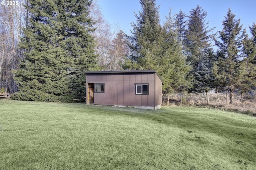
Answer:
[[[249,27],[249,36],[228,9],[222,30],[213,33],[207,13],[197,5],[188,16],[182,10],[172,15],[170,10],[160,25],[156,1],[141,0],[140,4],[142,10],[128,36],[132,54],[123,68],[157,70],[167,94],[229,90],[231,104],[235,90],[244,94],[255,86],[255,23]]]

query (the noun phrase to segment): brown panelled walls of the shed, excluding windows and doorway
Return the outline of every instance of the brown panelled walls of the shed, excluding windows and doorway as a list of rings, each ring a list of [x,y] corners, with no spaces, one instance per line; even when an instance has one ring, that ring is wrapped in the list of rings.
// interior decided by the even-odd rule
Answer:
[[[94,92],[94,104],[120,106],[157,106],[162,104],[162,81],[156,73],[87,74],[86,84],[88,83],[105,83],[104,93]],[[149,94],[136,95],[136,83],[149,84]]]

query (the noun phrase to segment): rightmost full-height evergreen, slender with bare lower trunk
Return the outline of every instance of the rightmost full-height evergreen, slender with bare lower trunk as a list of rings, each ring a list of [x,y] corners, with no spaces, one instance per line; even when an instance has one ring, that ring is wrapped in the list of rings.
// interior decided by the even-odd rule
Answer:
[[[244,31],[240,26],[240,19],[235,20],[233,12],[228,9],[225,20],[222,21],[223,29],[218,31],[219,39],[216,40],[218,47],[218,70],[225,79],[225,87],[230,91],[230,104],[234,101],[234,90],[238,88],[243,80],[245,74],[245,67],[241,62],[242,41],[244,38]]]

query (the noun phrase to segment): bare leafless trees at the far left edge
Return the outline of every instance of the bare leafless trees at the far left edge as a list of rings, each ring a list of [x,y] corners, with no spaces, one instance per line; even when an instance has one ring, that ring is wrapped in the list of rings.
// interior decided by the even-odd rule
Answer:
[[[22,58],[18,49],[26,13],[22,3],[26,3],[26,0],[12,6],[0,6],[0,88],[6,87],[10,93],[18,90],[12,69],[18,68],[19,59]]]

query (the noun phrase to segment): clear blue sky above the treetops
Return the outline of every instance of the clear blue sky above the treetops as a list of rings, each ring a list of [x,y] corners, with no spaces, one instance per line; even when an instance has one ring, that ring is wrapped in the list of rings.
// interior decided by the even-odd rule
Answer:
[[[131,23],[136,22],[136,14],[141,11],[139,0],[98,0],[101,12],[105,19],[112,25],[112,29],[122,29],[126,34],[131,34]],[[156,5],[160,5],[159,14],[161,23],[165,21],[171,8],[172,15],[177,14],[180,9],[186,15],[196,8],[197,4],[207,12],[206,22],[209,22],[209,29],[215,28],[213,33],[222,30],[222,21],[225,20],[228,9],[240,18],[240,25],[248,29],[256,22],[256,0],[156,0]]]

